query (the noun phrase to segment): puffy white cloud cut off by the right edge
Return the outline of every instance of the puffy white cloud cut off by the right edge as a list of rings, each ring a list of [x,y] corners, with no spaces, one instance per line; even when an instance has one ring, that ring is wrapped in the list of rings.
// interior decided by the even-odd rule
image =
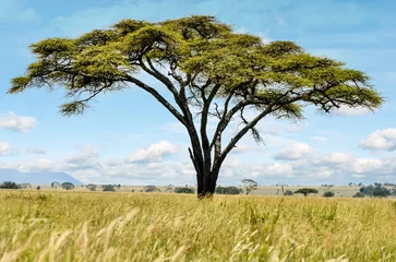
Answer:
[[[396,150],[396,129],[389,128],[376,130],[360,142],[360,147],[371,151],[395,151]]]

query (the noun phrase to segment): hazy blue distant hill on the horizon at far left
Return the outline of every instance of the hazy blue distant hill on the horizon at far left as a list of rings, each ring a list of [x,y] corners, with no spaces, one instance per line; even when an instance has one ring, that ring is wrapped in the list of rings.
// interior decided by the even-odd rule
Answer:
[[[71,182],[74,184],[83,184],[82,181],[65,172],[21,172],[15,169],[0,168],[0,183],[3,181],[31,184],[50,184],[56,181],[60,183]]]

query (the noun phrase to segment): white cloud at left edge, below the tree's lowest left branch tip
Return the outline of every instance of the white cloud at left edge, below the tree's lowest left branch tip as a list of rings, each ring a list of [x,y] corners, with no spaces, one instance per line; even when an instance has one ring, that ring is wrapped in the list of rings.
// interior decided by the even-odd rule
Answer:
[[[8,115],[0,115],[0,129],[8,129],[17,132],[26,132],[37,123],[34,117],[22,117],[10,111]]]

